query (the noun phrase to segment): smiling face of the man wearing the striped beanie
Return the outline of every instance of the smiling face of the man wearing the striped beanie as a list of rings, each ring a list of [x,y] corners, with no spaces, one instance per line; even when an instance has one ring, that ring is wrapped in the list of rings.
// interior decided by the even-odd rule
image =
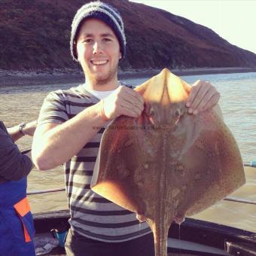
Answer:
[[[85,77],[94,84],[117,78],[120,45],[112,29],[101,20],[84,21],[78,34],[77,53]]]

